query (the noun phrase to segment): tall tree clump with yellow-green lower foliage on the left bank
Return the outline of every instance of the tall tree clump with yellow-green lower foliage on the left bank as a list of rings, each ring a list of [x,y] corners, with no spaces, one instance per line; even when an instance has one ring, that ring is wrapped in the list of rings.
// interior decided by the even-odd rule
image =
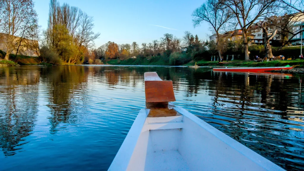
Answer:
[[[50,0],[48,29],[45,32],[45,39],[48,48],[56,51],[62,60],[67,63],[76,63],[88,49],[94,47],[94,40],[100,34],[94,33],[93,27],[93,17],[88,16],[77,7],[71,7],[67,4],[60,6],[57,0]],[[60,39],[62,33],[57,30],[58,28],[65,35],[69,35],[70,38]],[[64,42],[67,40],[71,40],[71,42]],[[58,45],[67,46],[61,48]],[[62,52],[65,48],[68,49],[69,53]]]

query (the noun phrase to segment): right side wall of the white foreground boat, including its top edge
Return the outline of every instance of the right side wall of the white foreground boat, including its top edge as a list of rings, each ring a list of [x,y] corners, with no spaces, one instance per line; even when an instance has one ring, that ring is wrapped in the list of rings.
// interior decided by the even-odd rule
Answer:
[[[181,107],[180,154],[192,170],[284,170]]]

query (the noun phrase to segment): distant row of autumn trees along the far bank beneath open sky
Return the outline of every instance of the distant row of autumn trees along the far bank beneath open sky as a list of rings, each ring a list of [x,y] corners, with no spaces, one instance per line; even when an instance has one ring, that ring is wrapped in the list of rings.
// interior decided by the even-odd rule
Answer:
[[[109,41],[108,43],[94,49],[95,59],[128,59],[128,58],[147,58],[155,56],[166,56],[180,52],[183,50],[199,50],[203,44],[197,35],[193,36],[186,31],[185,36],[177,38],[173,34],[166,33],[159,40],[153,40],[150,43],[142,43],[141,46],[137,42],[132,44],[116,44]],[[93,61],[93,60],[92,60]]]

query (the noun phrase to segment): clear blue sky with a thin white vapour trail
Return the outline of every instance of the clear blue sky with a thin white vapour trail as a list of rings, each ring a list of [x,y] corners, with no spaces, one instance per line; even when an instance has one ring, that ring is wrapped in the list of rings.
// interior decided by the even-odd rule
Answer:
[[[192,12],[205,0],[58,0],[60,5],[77,6],[94,17],[94,31],[100,33],[96,47],[108,41],[117,44],[150,43],[165,33],[181,38],[185,31],[206,40],[211,34],[207,23],[193,28]],[[39,25],[47,28],[48,0],[34,0]]]

